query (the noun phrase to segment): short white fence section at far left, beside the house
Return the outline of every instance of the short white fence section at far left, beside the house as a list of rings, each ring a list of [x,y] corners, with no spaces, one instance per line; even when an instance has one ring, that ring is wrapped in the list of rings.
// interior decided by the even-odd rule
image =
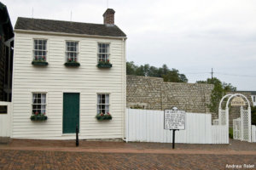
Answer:
[[[10,137],[11,133],[11,117],[12,105],[11,102],[0,101],[0,137]],[[7,107],[7,111],[3,111]]]

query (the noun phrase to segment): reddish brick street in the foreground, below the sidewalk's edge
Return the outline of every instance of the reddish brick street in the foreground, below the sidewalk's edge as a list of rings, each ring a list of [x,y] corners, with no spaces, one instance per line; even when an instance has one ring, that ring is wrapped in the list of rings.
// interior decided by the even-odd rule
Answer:
[[[251,165],[256,156],[197,154],[90,153],[0,150],[0,169],[224,169]],[[255,168],[251,168],[255,169]]]

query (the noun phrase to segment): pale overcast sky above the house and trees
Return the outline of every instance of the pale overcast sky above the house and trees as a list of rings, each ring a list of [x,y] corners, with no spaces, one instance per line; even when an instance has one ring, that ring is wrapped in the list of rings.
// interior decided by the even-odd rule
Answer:
[[[107,3],[108,2],[108,3]],[[211,69],[238,90],[256,91],[256,1],[254,0],[3,0],[13,26],[18,16],[103,22],[113,8],[127,35],[127,60],[168,65],[189,82]],[[108,6],[107,6],[108,4]]]

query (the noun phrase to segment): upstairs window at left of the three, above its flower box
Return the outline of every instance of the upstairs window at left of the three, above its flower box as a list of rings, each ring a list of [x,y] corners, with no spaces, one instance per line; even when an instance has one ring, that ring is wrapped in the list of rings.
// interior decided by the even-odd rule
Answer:
[[[44,39],[34,39],[33,48],[35,61],[46,61],[47,59],[47,40]]]

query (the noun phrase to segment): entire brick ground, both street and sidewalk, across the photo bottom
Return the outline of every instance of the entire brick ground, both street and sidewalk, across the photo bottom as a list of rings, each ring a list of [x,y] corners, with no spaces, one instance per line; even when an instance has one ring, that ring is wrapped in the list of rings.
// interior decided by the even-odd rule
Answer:
[[[237,141],[172,150],[172,144],[81,141],[76,148],[74,141],[14,140],[0,145],[0,169],[256,169],[255,150],[256,144]]]

